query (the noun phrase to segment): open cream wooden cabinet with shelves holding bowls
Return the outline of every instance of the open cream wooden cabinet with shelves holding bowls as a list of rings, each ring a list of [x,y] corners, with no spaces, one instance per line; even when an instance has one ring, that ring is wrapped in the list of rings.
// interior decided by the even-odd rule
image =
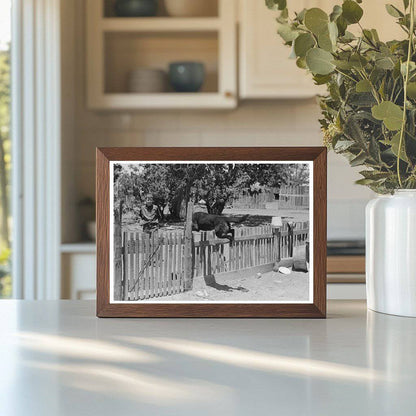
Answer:
[[[160,2],[163,4],[163,2]],[[103,7],[104,5],[104,7]],[[114,17],[114,2],[87,0],[87,103],[91,109],[215,109],[237,105],[235,3],[216,0],[217,16]],[[148,68],[168,74],[169,64],[202,62],[200,91],[129,92],[132,71]],[[139,88],[141,91],[149,88]]]

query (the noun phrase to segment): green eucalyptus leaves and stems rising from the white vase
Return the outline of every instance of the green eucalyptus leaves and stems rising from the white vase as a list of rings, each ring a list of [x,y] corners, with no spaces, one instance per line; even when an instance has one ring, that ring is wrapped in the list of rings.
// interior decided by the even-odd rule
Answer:
[[[360,3],[344,0],[329,14],[314,7],[291,18],[286,0],[266,0],[270,9],[280,11],[277,32],[292,48],[296,65],[327,87],[328,93],[319,97],[325,145],[347,157],[351,166],[365,166],[358,184],[380,194],[413,189],[415,0],[403,0],[401,8],[385,6],[404,32],[404,40],[387,42],[361,25]],[[348,30],[351,25],[359,35]]]

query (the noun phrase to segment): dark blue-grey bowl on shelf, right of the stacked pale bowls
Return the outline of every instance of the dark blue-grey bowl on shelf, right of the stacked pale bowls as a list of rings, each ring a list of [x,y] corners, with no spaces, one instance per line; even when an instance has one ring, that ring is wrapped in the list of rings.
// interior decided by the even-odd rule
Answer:
[[[198,92],[205,80],[205,67],[201,62],[172,62],[169,81],[177,92]]]

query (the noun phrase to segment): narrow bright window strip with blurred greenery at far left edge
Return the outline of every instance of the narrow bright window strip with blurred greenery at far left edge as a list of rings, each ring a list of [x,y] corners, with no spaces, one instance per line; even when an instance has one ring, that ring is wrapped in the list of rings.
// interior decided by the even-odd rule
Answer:
[[[0,0],[0,298],[12,295],[10,265],[11,0]]]

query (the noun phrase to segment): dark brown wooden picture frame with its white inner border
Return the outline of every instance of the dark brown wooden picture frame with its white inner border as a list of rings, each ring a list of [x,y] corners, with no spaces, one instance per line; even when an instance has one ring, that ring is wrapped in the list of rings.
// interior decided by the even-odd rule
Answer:
[[[216,318],[325,318],[326,317],[326,168],[327,150],[324,147],[147,147],[97,148],[97,316],[98,317],[216,317]],[[266,165],[276,163],[305,163],[311,166],[309,184],[311,222],[313,230],[309,242],[312,273],[309,276],[311,298],[307,302],[114,302],[110,298],[111,266],[114,273],[120,252],[112,242],[114,238],[113,211],[110,209],[114,163],[197,163],[227,162],[230,164]],[[111,177],[110,177],[111,176]],[[186,222],[188,224],[188,222]],[[112,227],[113,235],[110,233]],[[187,225],[185,225],[186,229]],[[186,231],[185,231],[186,232]],[[117,234],[118,235],[118,234]],[[193,237],[192,237],[193,238]],[[293,237],[292,237],[293,238]],[[218,240],[219,241],[219,240]],[[217,241],[217,243],[218,243]],[[221,240],[222,241],[222,240]],[[230,240],[231,241],[231,240]],[[126,246],[127,247],[127,246]],[[230,246],[231,247],[231,243]],[[280,260],[280,240],[279,240]],[[114,249],[114,252],[110,250]],[[185,248],[186,249],[186,248]],[[118,251],[117,251],[118,250]],[[182,250],[182,249],[181,249]],[[231,250],[231,249],[230,249]],[[292,243],[293,250],[293,243]],[[127,251],[126,251],[127,252]],[[181,251],[183,253],[183,251]],[[114,259],[110,261],[110,256]],[[194,260],[194,259],[193,259]],[[152,260],[155,261],[155,260]],[[184,260],[185,261],[185,260]],[[111,265],[111,266],[110,266]],[[126,266],[127,267],[127,266]],[[187,266],[185,266],[187,267]],[[183,269],[181,269],[183,270]],[[117,272],[118,273],[118,272]],[[260,274],[260,273],[259,273]],[[192,275],[193,276],[193,275]],[[284,276],[284,275],[281,275]],[[177,276],[175,278],[178,278]],[[127,278],[124,278],[127,279]],[[114,280],[116,282],[116,280]],[[259,279],[261,282],[261,279]],[[114,287],[115,287],[114,283]],[[259,283],[260,284],[260,283]],[[112,295],[114,296],[114,294]],[[138,298],[137,298],[138,299]]]

